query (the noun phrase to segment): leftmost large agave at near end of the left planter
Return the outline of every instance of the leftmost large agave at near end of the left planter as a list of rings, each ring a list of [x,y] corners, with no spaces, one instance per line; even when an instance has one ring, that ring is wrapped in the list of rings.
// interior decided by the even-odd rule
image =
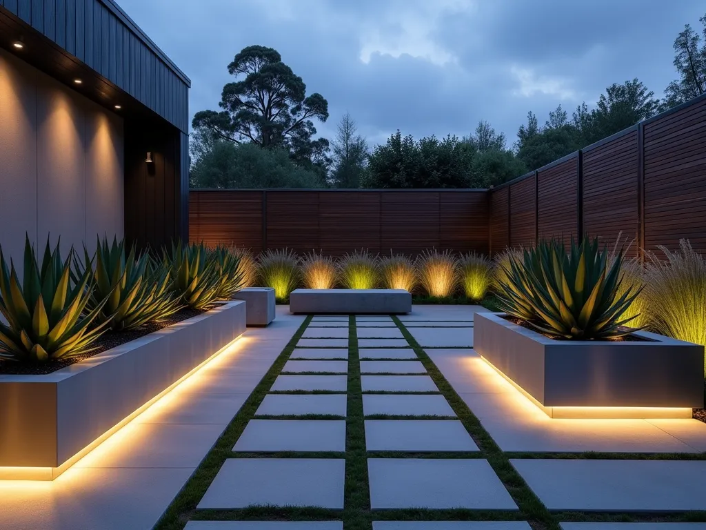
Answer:
[[[0,249],[0,358],[45,363],[88,353],[102,334],[106,322],[90,328],[106,300],[88,310],[92,278],[90,269],[71,277],[71,258],[61,259],[59,243],[52,251],[47,240],[42,263],[25,238],[23,279],[7,262]]]

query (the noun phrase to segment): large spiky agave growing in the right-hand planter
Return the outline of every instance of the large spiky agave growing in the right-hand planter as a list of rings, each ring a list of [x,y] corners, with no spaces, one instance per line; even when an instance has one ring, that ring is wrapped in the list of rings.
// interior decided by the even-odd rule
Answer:
[[[522,319],[544,334],[575,340],[625,336],[635,329],[626,324],[635,317],[623,314],[639,294],[621,288],[621,251],[609,266],[606,248],[588,237],[569,252],[562,242],[542,241],[525,250],[522,261],[510,257],[501,285],[501,310]]]

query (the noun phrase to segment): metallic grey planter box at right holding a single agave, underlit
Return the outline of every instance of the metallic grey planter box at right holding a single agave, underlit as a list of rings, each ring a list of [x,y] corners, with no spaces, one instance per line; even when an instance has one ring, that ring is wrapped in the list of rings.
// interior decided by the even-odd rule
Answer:
[[[475,314],[474,348],[549,416],[690,418],[704,404],[703,346],[645,331],[556,341],[499,315]]]

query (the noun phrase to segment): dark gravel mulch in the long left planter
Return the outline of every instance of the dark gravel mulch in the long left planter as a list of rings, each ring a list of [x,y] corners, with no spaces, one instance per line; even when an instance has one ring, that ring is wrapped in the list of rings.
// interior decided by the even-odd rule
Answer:
[[[78,363],[81,360],[88,359],[93,355],[109,350],[110,348],[115,348],[129,341],[134,341],[136,338],[140,338],[147,334],[153,333],[154,331],[159,331],[172,324],[177,324],[182,320],[190,319],[191,317],[196,317],[197,315],[203,313],[203,310],[192,310],[183,309],[172,314],[169,318],[164,319],[162,322],[147,324],[138,329],[132,329],[130,331],[107,331],[102,334],[95,343],[95,350],[89,353],[84,353],[83,355],[77,355],[70,359],[54,360],[49,363],[43,364],[25,364],[25,363],[15,363],[11,360],[0,360],[0,374],[6,375],[45,375],[56,372],[56,370],[61,370],[61,368]]]

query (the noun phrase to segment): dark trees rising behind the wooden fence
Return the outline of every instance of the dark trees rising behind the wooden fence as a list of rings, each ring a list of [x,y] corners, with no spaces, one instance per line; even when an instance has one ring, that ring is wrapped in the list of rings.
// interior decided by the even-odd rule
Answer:
[[[331,146],[316,138],[314,121],[328,119],[321,94],[306,85],[280,54],[246,47],[228,65],[236,81],[223,87],[219,111],[193,118],[191,185],[216,188],[490,187],[538,169],[674,105],[706,93],[706,15],[701,33],[685,25],[674,41],[678,74],[662,101],[638,79],[613,83],[594,108],[569,117],[558,105],[544,125],[534,112],[512,148],[486,121],[459,139],[415,140],[399,130],[372,151],[347,112]]]

